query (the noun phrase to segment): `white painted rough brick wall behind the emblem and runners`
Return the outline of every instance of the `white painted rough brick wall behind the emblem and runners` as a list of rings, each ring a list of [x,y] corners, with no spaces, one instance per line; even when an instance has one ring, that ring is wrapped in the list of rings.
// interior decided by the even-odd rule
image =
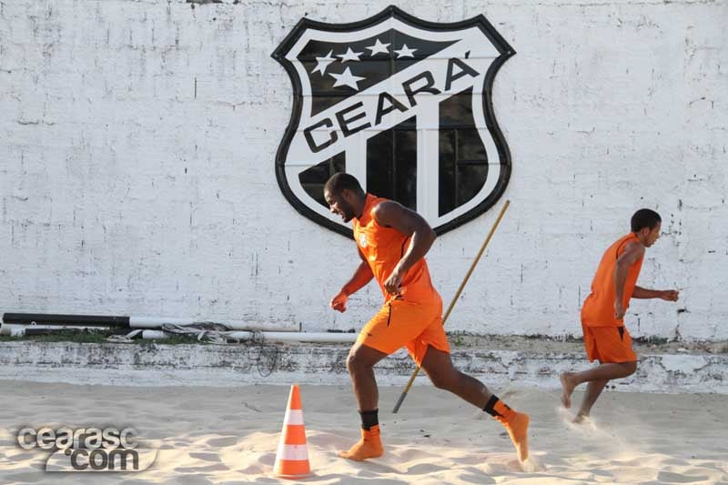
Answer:
[[[344,315],[326,306],[353,243],[278,190],[291,86],[270,53],[303,15],[343,23],[387,5],[0,0],[0,311],[360,328],[374,285]],[[633,300],[628,326],[728,338],[728,3],[398,5],[443,22],[482,13],[518,51],[493,88],[511,209],[448,328],[579,335],[602,251],[654,207],[665,235],[640,284],[682,299]],[[432,248],[446,303],[493,220]]]

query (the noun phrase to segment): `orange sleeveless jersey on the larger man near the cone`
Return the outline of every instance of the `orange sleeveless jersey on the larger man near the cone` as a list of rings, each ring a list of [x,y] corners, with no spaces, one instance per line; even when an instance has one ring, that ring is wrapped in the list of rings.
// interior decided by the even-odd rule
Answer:
[[[379,283],[386,301],[392,298],[384,288],[384,282],[392,274],[394,267],[399,263],[407,248],[410,246],[410,237],[402,234],[394,227],[383,227],[377,224],[371,211],[386,198],[374,197],[367,194],[361,218],[354,218],[354,240],[369,263],[369,268]],[[401,297],[411,302],[432,302],[440,299],[440,295],[432,286],[430,271],[425,258],[421,258],[405,273],[402,278]]]

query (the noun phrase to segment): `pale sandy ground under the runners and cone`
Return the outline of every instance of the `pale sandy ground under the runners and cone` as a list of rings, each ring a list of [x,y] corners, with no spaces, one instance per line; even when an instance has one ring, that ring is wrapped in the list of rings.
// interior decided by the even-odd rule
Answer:
[[[290,483],[271,476],[288,387],[139,388],[0,381],[0,483]],[[556,391],[496,389],[531,414],[523,471],[501,425],[447,392],[380,389],[386,454],[357,463],[336,451],[359,436],[349,385],[301,386],[312,483],[725,483],[728,396],[605,391],[591,423],[572,425]],[[579,390],[574,399],[581,399]],[[157,460],[136,473],[45,471],[17,430],[135,428]],[[533,470],[535,469],[535,470]]]

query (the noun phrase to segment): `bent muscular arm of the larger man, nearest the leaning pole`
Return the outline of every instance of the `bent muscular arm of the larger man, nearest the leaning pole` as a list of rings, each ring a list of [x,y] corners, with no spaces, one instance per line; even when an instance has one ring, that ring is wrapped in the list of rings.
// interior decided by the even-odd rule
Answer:
[[[379,226],[393,227],[411,238],[410,247],[407,248],[402,258],[399,259],[397,266],[394,267],[392,274],[384,282],[384,288],[394,295],[399,291],[402,278],[407,270],[425,257],[437,236],[420,214],[394,201],[382,202],[374,207],[372,216]]]

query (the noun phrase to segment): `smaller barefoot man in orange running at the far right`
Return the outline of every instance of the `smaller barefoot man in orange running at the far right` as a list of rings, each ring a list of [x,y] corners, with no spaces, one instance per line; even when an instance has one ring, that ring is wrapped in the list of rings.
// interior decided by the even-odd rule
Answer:
[[[624,328],[624,313],[630,298],[662,298],[677,301],[674,289],[655,290],[637,286],[645,248],[660,237],[662,219],[657,212],[640,209],[632,216],[632,232],[620,237],[606,250],[597,274],[591,282],[591,294],[581,307],[581,329],[589,361],[599,366],[581,372],[561,374],[561,402],[571,407],[571,392],[588,382],[581,409],[574,422],[589,417],[591,407],[611,379],[622,379],[637,369],[637,355],[632,350],[632,337]]]

